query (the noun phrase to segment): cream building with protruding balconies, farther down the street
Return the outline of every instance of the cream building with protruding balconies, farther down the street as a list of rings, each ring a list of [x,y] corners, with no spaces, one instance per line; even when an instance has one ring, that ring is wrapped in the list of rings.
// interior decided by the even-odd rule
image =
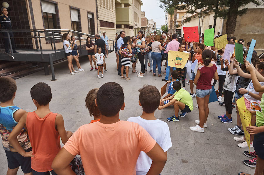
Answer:
[[[136,36],[141,29],[141,0],[116,0],[116,33]]]

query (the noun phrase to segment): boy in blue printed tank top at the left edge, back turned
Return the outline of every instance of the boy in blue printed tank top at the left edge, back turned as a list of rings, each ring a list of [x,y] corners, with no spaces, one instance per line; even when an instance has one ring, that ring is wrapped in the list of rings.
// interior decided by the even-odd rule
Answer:
[[[17,125],[21,117],[26,113],[25,110],[14,105],[13,100],[16,97],[16,82],[10,77],[0,77],[0,134],[2,137],[3,148],[7,157],[7,174],[15,175],[19,166],[24,174],[32,174],[31,157],[23,157],[13,145],[7,140],[10,132]],[[21,128],[18,131],[18,144],[21,149],[27,153],[32,152],[31,144],[26,129]],[[4,173],[4,172],[3,172]]]

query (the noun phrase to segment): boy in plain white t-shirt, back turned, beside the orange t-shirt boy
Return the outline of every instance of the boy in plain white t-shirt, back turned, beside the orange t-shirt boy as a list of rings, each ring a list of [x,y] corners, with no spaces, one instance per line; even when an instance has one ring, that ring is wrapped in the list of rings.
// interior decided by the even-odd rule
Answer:
[[[142,106],[143,112],[141,116],[130,117],[127,121],[138,123],[143,127],[152,138],[160,145],[167,155],[167,150],[172,147],[170,131],[167,123],[155,118],[154,112],[160,104],[160,92],[155,86],[144,86],[138,90],[139,105]],[[145,175],[150,169],[152,160],[141,151],[137,163],[136,174]]]

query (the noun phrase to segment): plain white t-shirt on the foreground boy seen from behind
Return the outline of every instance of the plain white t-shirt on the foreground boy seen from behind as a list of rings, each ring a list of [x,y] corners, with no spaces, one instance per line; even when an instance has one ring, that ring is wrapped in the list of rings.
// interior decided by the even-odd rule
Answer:
[[[159,119],[156,120],[146,120],[138,117],[130,117],[127,119],[129,122],[138,123],[143,127],[152,138],[160,145],[160,147],[166,152],[170,147],[172,147],[170,130],[166,122],[163,122]],[[136,174],[145,175],[150,169],[152,160],[144,153],[140,152],[138,156],[138,161],[136,163]]]

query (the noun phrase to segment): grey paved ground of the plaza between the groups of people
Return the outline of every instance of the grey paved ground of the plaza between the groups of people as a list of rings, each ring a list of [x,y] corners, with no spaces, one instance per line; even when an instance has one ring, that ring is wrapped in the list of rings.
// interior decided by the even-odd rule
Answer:
[[[131,80],[126,81],[117,75],[116,55],[110,53],[106,60],[107,72],[104,78],[97,78],[97,71],[90,71],[91,66],[87,59],[80,59],[80,64],[84,72],[70,75],[67,61],[54,65],[55,78],[57,81],[50,81],[51,75],[45,76],[44,71],[37,72],[26,77],[17,79],[17,92],[14,104],[26,111],[35,110],[30,96],[30,89],[38,82],[45,82],[51,87],[52,100],[50,102],[50,110],[62,114],[65,122],[66,131],[76,131],[83,124],[91,121],[88,110],[85,108],[85,98],[89,90],[99,88],[106,82],[119,83],[124,90],[125,110],[120,112],[120,119],[127,120],[129,117],[136,117],[142,114],[142,108],[138,104],[138,89],[144,84],[156,86],[160,89],[165,82],[161,81],[165,76],[163,72],[165,67],[162,66],[162,77],[153,77],[153,72],[145,73],[145,77],[137,77],[129,69],[129,77]],[[74,66],[77,70],[75,61]],[[165,64],[165,62],[163,62]],[[136,65],[136,70],[140,72],[140,63]],[[215,89],[218,89],[216,84]],[[189,85],[186,84],[186,90],[189,92]],[[163,110],[156,110],[155,117],[165,121],[170,128],[172,139],[172,148],[168,150],[167,163],[163,169],[162,175],[172,174],[199,174],[199,175],[233,175],[238,172],[247,172],[254,174],[255,168],[246,166],[242,161],[248,159],[243,155],[244,150],[237,146],[238,142],[233,140],[232,135],[227,128],[236,125],[236,109],[233,108],[233,123],[224,124],[217,118],[218,115],[225,114],[225,107],[220,106],[218,102],[209,103],[208,127],[204,133],[197,133],[189,130],[190,126],[195,126],[194,120],[199,119],[196,99],[194,102],[194,110],[188,113],[184,118],[180,117],[178,122],[168,122],[167,117],[174,114],[173,107]],[[254,149],[251,148],[251,151]],[[6,174],[7,160],[4,149],[0,148],[0,174]],[[22,175],[21,169],[18,175]]]

